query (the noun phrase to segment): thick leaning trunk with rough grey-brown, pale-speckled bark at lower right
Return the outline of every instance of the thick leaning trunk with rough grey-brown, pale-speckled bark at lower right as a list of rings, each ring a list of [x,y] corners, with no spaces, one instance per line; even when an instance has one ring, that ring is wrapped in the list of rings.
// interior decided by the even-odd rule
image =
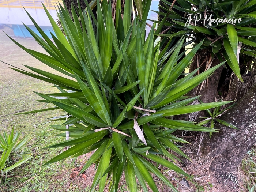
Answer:
[[[235,125],[239,130],[216,124],[219,133],[214,133],[203,142],[203,153],[208,153],[213,161],[210,171],[215,174],[233,172],[242,162],[247,151],[256,142],[256,86],[225,113],[221,119]]]

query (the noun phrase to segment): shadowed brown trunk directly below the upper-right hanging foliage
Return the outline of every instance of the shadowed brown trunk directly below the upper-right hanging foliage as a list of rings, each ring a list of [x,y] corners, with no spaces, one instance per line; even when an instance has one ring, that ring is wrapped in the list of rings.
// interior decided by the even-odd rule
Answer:
[[[221,63],[216,55],[211,56],[211,50],[209,48],[201,49],[194,56],[193,62],[189,68],[189,73],[199,68],[197,74],[200,74],[209,68],[212,68]],[[244,83],[241,82],[237,76],[232,72],[229,65],[226,64],[227,68],[223,66],[219,67],[214,74],[212,74],[207,80],[199,84],[191,90],[187,96],[195,97],[197,95],[202,95],[200,99],[204,103],[216,102],[216,101],[239,101],[249,89],[256,83],[256,70],[255,65],[253,65],[250,72],[246,74],[246,65],[242,62],[240,64],[241,75]],[[250,63],[251,64],[251,63]],[[196,74],[196,75],[197,75]],[[198,104],[199,102],[196,101]],[[232,103],[225,105],[225,107],[231,105]],[[210,109],[211,111],[213,109]],[[180,120],[191,120],[193,116],[193,121],[201,121],[202,119],[196,117],[206,117],[208,113],[205,111],[197,112],[196,114],[185,114],[178,116],[177,119]],[[230,122],[229,122],[230,123]]]

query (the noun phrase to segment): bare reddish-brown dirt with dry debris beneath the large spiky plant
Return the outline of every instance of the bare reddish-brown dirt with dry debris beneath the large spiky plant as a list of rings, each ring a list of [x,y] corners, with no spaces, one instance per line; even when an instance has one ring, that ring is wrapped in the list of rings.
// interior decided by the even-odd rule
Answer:
[[[90,188],[91,184],[94,179],[95,175],[95,165],[91,165],[82,175],[78,176],[78,173],[82,169],[84,163],[87,161],[87,159],[90,158],[91,154],[86,154],[82,155],[79,157],[79,161],[83,160],[83,163],[80,165],[76,165],[72,170],[68,171],[67,173],[62,173],[56,176],[56,179],[61,179],[61,178],[67,178],[69,177],[69,181],[65,184],[65,187],[67,189],[72,188],[71,186],[80,186],[79,188],[81,189],[86,189]],[[192,162],[188,163],[187,166],[182,167],[181,163],[178,163],[177,165],[179,167],[182,167],[182,169],[187,172],[189,175],[191,175],[194,180],[189,180],[188,178],[187,181],[190,185],[190,187],[186,187],[182,184],[179,183],[179,181],[184,178],[180,174],[177,174],[173,170],[166,169],[166,167],[159,166],[159,170],[162,171],[162,173],[169,179],[170,182],[178,189],[179,192],[200,192],[200,191],[208,191],[208,192],[245,192],[246,189],[242,187],[242,181],[240,178],[241,173],[236,171],[233,173],[233,175],[236,176],[238,180],[238,185],[234,185],[232,182],[230,182],[228,179],[225,181],[226,184],[222,184],[222,180],[216,179],[213,175],[211,175],[208,172],[208,167],[210,165],[211,160],[207,159],[207,157],[200,159],[193,159],[193,156],[190,157]],[[201,159],[207,159],[207,162],[203,162]],[[184,166],[184,165],[183,165]],[[155,183],[157,184],[157,187],[159,189],[159,192],[172,192],[172,189],[164,185],[158,177],[153,176],[153,179]],[[139,182],[137,182],[139,184]],[[120,181],[120,187],[126,188],[124,186],[125,184],[125,177],[124,174],[121,177]],[[234,189],[236,187],[236,189]],[[97,190],[98,187],[96,187]],[[151,190],[148,190],[152,192]],[[108,185],[105,188],[105,192],[108,192]]]

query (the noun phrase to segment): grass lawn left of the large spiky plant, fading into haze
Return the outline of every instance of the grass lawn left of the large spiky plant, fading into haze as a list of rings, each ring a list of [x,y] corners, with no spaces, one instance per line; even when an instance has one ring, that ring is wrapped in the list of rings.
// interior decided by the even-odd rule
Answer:
[[[11,31],[8,28],[3,29],[7,34]],[[8,33],[9,32],[9,33]],[[35,42],[34,39],[15,39],[26,48],[44,52],[44,50]],[[22,65],[29,65],[34,68],[44,69],[49,72],[51,68],[42,64],[34,57],[27,54],[17,45],[15,45],[2,31],[0,32],[0,60],[5,61],[15,67],[25,69]],[[32,138],[20,154],[32,154],[33,158],[24,163],[22,166],[8,172],[8,175],[24,176],[15,177],[7,182],[4,190],[11,191],[18,185],[34,177],[31,181],[23,184],[14,190],[20,191],[84,191],[84,182],[71,182],[69,174],[71,169],[76,165],[86,161],[86,157],[77,159],[71,165],[72,159],[65,159],[59,163],[54,163],[41,168],[40,164],[45,163],[50,158],[59,154],[62,149],[42,149],[43,147],[64,140],[65,138],[54,136],[59,131],[53,130],[50,124],[33,126],[45,123],[46,118],[56,115],[63,115],[63,112],[49,111],[41,112],[32,116],[32,114],[15,115],[18,111],[30,111],[42,108],[45,103],[36,102],[35,100],[42,99],[33,91],[39,93],[53,93],[56,88],[50,87],[49,83],[31,78],[20,74],[10,68],[8,65],[0,62],[0,132],[7,131],[10,133],[12,127],[16,132],[22,132],[22,136],[30,135]],[[50,107],[48,104],[46,107]],[[56,122],[61,124],[61,122]],[[79,183],[81,186],[79,186]],[[82,186],[83,185],[83,186]],[[86,186],[85,186],[86,188]]]

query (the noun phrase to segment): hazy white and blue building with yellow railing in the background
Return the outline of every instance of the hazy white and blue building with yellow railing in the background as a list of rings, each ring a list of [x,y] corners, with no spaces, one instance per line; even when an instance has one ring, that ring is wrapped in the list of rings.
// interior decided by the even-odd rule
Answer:
[[[50,21],[44,11],[42,3],[48,9],[53,19],[57,21],[57,3],[62,3],[58,0],[0,0],[0,29],[8,27],[12,29],[15,37],[28,38],[32,37],[26,27],[23,25],[26,24],[37,33],[37,29],[33,25],[33,22],[30,20],[24,8],[29,12],[32,18],[37,22],[41,29],[51,38],[50,31],[54,34]],[[55,6],[55,7],[54,7]],[[10,30],[8,30],[10,31]],[[9,35],[9,34],[8,34]]]

